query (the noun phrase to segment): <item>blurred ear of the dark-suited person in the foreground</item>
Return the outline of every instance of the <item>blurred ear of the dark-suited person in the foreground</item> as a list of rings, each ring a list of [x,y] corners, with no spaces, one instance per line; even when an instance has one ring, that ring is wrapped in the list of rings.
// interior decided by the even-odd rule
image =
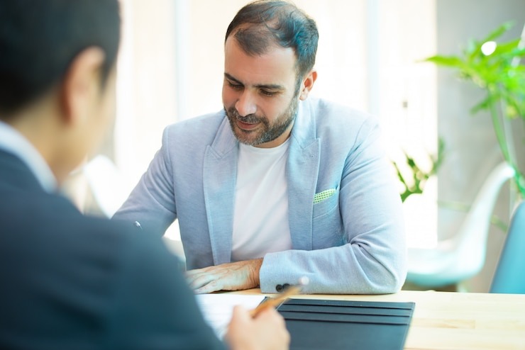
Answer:
[[[104,51],[88,47],[79,53],[67,70],[60,91],[60,107],[64,123],[77,123],[90,111],[93,98],[99,94],[100,73]]]

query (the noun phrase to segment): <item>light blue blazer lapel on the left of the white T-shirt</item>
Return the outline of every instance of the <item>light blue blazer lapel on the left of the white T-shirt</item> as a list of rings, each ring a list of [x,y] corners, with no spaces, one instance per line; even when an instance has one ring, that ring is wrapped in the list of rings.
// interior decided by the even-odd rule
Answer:
[[[204,156],[204,202],[214,264],[231,261],[238,142],[227,118]]]

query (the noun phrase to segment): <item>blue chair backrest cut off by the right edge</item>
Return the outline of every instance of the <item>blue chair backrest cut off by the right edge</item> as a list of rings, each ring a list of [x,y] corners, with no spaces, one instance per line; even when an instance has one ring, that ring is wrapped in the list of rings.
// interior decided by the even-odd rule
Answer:
[[[490,293],[525,294],[525,201],[514,214],[492,278]]]

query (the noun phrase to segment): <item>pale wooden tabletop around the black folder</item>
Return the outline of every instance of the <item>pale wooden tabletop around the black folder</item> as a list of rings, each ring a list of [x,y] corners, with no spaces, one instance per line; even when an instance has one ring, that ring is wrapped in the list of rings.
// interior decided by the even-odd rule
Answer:
[[[260,294],[243,290],[240,294]],[[402,290],[388,295],[297,295],[416,303],[404,349],[525,349],[525,295]]]

